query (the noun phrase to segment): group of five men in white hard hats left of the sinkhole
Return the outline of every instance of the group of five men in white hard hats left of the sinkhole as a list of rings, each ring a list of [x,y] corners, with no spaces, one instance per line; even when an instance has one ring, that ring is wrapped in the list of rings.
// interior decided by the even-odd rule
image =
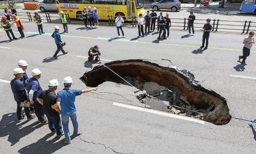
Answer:
[[[38,122],[41,124],[48,124],[52,135],[56,134],[58,138],[65,135],[63,142],[65,144],[70,144],[69,117],[74,127],[73,135],[76,136],[78,134],[75,97],[90,92],[91,90],[96,90],[97,88],[85,90],[71,89],[73,80],[68,76],[64,78],[63,81],[64,89],[56,94],[55,91],[59,86],[57,79],[50,80],[48,82],[48,89],[43,90],[39,84],[39,79],[42,74],[39,69],[32,70],[32,77],[25,80],[27,77],[27,62],[25,60],[19,60],[18,66],[18,68],[13,70],[15,78],[12,79],[10,83],[14,99],[17,103],[16,114],[18,122],[21,122],[24,119],[24,116],[22,115],[22,108],[24,107],[28,121],[37,116]],[[35,115],[31,114],[29,104],[35,108]],[[59,106],[61,107],[60,109]]]

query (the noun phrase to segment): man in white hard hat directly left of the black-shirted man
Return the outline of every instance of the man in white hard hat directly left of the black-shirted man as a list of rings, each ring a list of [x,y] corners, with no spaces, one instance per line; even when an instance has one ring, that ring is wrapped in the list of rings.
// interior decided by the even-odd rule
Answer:
[[[43,89],[39,84],[38,79],[40,79],[42,72],[39,69],[34,69],[31,72],[32,78],[27,81],[27,92],[29,96],[30,103],[33,104],[38,120],[41,124],[48,124],[47,119],[44,118],[43,105],[38,103],[37,96],[42,93]]]

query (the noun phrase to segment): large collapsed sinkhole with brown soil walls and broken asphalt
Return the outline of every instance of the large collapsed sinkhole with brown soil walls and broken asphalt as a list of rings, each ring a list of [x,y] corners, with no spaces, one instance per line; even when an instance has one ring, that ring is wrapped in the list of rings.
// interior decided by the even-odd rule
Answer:
[[[203,119],[217,125],[228,124],[231,119],[226,99],[202,87],[187,70],[144,60],[117,60],[105,65],[139,89],[134,94],[148,108]],[[85,72],[80,79],[89,87],[105,81],[127,84],[103,65]]]

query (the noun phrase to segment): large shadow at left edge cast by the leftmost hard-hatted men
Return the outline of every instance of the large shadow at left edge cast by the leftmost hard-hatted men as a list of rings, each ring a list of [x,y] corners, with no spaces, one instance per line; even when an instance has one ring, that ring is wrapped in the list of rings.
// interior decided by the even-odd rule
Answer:
[[[9,113],[9,114],[4,114],[0,121],[0,128],[1,128],[0,137],[5,137],[9,135],[8,141],[11,142],[11,146],[18,143],[21,138],[29,135],[35,129],[38,129],[43,126],[42,124],[39,124],[36,120],[34,123],[23,127],[23,125],[28,122],[26,120],[27,117],[25,117],[25,119],[23,119],[23,122],[20,122],[20,123],[17,123],[15,121],[16,119],[17,119],[16,113]]]

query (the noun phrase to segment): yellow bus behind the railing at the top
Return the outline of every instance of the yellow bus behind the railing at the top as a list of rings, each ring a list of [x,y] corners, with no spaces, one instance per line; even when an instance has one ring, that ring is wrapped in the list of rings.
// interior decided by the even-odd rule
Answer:
[[[144,15],[144,0],[56,0],[58,13],[63,11],[70,18],[80,18],[84,7],[96,7],[98,18],[107,20],[108,15],[120,14],[124,20],[131,20],[131,16]],[[87,9],[88,10],[88,9]]]

